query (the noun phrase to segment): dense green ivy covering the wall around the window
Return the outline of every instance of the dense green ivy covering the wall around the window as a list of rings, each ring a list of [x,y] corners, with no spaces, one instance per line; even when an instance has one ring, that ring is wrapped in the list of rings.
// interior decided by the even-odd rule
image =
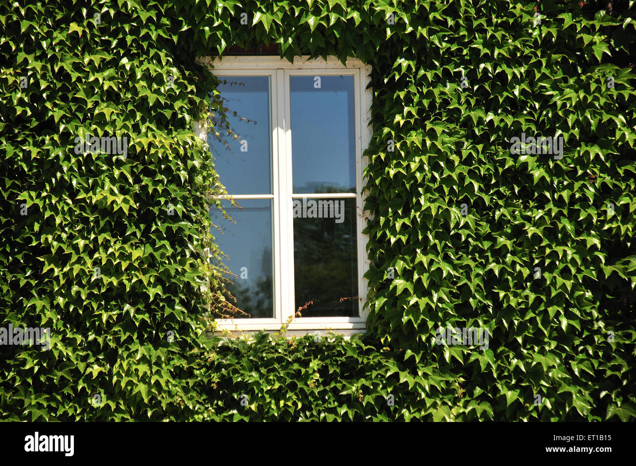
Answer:
[[[0,320],[53,334],[0,347],[2,417],[636,415],[635,10],[536,7],[0,3]],[[201,338],[222,188],[191,129],[216,83],[195,58],[263,43],[373,69],[362,339]],[[129,135],[127,157],[76,154],[81,128]],[[522,133],[562,135],[562,157],[511,153]]]

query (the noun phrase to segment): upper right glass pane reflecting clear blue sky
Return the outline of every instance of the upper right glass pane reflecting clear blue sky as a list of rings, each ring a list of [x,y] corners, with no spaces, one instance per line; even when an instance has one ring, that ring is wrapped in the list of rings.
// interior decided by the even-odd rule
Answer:
[[[353,76],[290,76],[294,193],[355,193]]]

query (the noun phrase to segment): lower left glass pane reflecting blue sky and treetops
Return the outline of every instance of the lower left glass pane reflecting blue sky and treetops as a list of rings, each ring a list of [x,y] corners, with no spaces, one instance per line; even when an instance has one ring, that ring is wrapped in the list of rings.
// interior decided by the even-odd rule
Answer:
[[[224,203],[223,209],[236,222],[223,219],[223,214],[211,207],[212,236],[219,249],[228,257],[222,257],[234,275],[228,276],[233,284],[228,291],[237,299],[237,306],[249,316],[237,313],[235,318],[274,317],[273,311],[273,262],[272,262],[272,200],[252,199],[237,201],[242,207]]]

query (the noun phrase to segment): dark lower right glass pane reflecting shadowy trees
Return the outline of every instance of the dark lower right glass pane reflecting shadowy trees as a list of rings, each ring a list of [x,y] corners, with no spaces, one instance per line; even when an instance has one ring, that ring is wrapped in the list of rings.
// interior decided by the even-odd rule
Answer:
[[[294,289],[302,317],[359,315],[356,200],[294,199]]]

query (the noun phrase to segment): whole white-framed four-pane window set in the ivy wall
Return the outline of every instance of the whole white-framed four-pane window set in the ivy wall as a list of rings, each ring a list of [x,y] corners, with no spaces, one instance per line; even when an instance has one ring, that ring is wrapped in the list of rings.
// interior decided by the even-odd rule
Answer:
[[[239,139],[227,139],[229,148],[212,135],[207,140],[240,208],[224,203],[233,224],[212,207],[223,231],[212,234],[245,312],[219,321],[221,329],[279,329],[298,308],[290,331],[364,329],[369,72],[358,60],[345,67],[332,58],[214,62]]]

